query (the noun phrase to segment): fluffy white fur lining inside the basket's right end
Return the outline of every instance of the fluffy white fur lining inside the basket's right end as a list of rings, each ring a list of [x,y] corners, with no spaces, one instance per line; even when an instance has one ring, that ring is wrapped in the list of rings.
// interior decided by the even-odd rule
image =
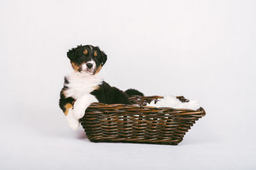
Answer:
[[[175,96],[164,96],[163,99],[158,99],[156,104],[154,103],[154,101],[152,101],[150,104],[147,104],[147,106],[153,106],[157,108],[160,108],[160,107],[182,108],[182,109],[189,109],[189,110],[197,110],[198,108],[200,108],[198,101],[190,100],[189,102],[182,103]]]

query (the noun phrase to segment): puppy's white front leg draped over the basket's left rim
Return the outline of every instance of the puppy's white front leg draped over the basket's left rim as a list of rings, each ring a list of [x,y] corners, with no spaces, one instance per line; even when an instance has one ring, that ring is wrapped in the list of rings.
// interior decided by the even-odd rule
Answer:
[[[76,99],[74,103],[74,117],[78,120],[79,118],[84,117],[86,108],[90,106],[91,103],[98,102],[95,96],[92,94],[86,94],[84,96]]]

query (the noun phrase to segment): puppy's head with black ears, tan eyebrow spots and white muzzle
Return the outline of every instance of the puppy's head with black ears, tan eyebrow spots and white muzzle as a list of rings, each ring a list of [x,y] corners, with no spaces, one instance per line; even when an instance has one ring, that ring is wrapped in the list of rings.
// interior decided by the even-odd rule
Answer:
[[[74,71],[97,74],[107,60],[107,55],[98,46],[79,45],[67,52]]]

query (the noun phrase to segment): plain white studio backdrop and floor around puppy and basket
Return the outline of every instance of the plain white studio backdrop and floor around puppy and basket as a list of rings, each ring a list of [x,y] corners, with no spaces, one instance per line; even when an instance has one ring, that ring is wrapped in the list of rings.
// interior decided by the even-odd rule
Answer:
[[[255,1],[0,1],[0,169],[255,169]],[[105,80],[197,99],[178,146],[91,143],[58,107],[67,50]]]

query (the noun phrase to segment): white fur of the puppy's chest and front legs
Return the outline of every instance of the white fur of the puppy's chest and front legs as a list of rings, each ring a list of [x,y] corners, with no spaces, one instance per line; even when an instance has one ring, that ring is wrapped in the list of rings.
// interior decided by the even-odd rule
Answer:
[[[95,96],[90,94],[97,85],[100,85],[103,78],[100,74],[88,74],[74,72],[66,76],[69,83],[65,83],[68,89],[65,91],[65,97],[76,99],[74,108],[68,111],[68,125],[76,131],[79,126],[78,119],[84,116],[84,112],[91,103],[98,102]],[[78,126],[77,126],[78,122]]]

